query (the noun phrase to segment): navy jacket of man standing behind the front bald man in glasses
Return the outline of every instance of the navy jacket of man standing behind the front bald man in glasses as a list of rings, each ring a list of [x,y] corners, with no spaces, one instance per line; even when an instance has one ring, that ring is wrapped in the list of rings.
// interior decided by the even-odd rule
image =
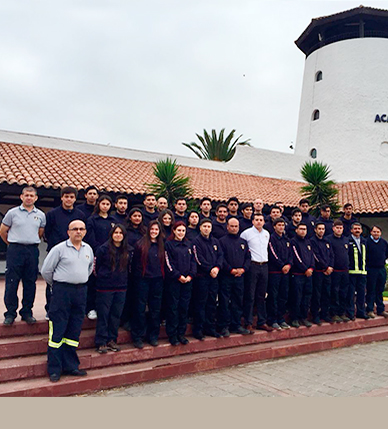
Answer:
[[[69,238],[67,230],[69,223],[73,220],[82,220],[86,224],[85,215],[77,207],[74,207],[72,210],[66,210],[61,204],[47,213],[44,235],[47,240],[48,252],[54,246]]]

